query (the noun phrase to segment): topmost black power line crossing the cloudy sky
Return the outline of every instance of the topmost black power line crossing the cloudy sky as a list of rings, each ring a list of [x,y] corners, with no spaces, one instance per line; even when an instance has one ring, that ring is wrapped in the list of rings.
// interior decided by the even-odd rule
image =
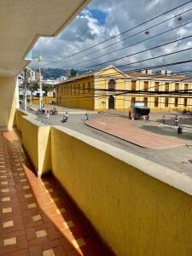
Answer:
[[[146,20],[146,21],[144,21],[144,22],[138,24],[137,26],[133,26],[132,28],[130,28],[130,29],[124,31],[124,32],[120,32],[119,34],[117,34],[117,35],[115,35],[115,36],[113,36],[113,37],[111,37],[111,38],[105,39],[105,40],[103,40],[102,42],[100,42],[100,43],[98,43],[98,44],[94,44],[94,45],[92,45],[92,46],[90,46],[90,47],[88,47],[88,48],[86,48],[86,49],[82,49],[82,50],[80,50],[79,52],[74,53],[73,55],[67,55],[67,56],[65,56],[65,57],[62,57],[62,58],[61,58],[60,60],[58,60],[58,61],[65,60],[65,59],[67,59],[67,58],[69,58],[69,57],[72,57],[72,56],[74,56],[74,55],[78,55],[79,53],[82,53],[82,52],[84,52],[84,51],[86,51],[86,50],[88,50],[88,49],[95,48],[96,46],[98,46],[98,45],[100,45],[100,44],[103,44],[103,43],[105,43],[105,42],[108,42],[109,40],[111,40],[111,39],[113,39],[113,38],[117,38],[117,37],[119,37],[120,35],[125,34],[126,32],[131,32],[132,30],[136,29],[137,27],[143,26],[144,24],[147,24],[149,21],[155,20],[155,19],[159,18],[160,16],[166,15],[166,14],[172,12],[173,10],[179,9],[179,8],[183,7],[184,5],[187,5],[188,3],[191,3],[191,2],[192,2],[192,0],[190,0],[190,1],[186,2],[186,3],[180,4],[180,5],[178,5],[177,7],[173,8],[173,9],[169,9],[168,11],[166,11],[166,12],[160,14],[160,15],[157,15],[157,16],[155,16],[155,17],[149,19],[149,20]],[[53,63],[55,63],[55,62],[57,62],[57,61],[52,61],[52,62],[49,62],[49,63],[47,63],[47,64],[45,64],[45,65],[47,66],[47,65],[53,64]],[[45,65],[44,65],[44,66],[45,66]]]

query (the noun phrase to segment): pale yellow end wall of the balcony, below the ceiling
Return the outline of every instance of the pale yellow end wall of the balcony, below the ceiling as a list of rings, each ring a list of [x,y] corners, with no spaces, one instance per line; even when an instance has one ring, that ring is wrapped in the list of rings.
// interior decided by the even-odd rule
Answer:
[[[0,126],[11,129],[15,122],[15,78],[0,77]]]

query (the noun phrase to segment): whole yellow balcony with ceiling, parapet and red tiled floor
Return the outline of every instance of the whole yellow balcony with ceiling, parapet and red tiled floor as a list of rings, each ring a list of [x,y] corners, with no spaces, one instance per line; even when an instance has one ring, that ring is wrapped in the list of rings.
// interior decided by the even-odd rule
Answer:
[[[0,2],[0,256],[190,255],[191,177],[16,109],[32,45],[88,2]]]

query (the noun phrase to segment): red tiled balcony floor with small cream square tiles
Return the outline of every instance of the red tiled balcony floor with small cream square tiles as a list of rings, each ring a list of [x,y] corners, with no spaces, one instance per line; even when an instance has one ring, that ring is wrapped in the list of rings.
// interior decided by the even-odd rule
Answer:
[[[108,256],[52,177],[29,167],[15,131],[0,131],[0,256]]]

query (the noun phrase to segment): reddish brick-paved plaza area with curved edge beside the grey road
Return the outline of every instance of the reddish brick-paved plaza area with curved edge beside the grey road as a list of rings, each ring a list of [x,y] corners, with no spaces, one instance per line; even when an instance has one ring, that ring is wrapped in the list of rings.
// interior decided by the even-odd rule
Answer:
[[[134,126],[135,122],[137,121],[122,117],[102,117],[90,119],[86,125],[143,148],[172,148],[183,145],[176,140],[139,129]]]

